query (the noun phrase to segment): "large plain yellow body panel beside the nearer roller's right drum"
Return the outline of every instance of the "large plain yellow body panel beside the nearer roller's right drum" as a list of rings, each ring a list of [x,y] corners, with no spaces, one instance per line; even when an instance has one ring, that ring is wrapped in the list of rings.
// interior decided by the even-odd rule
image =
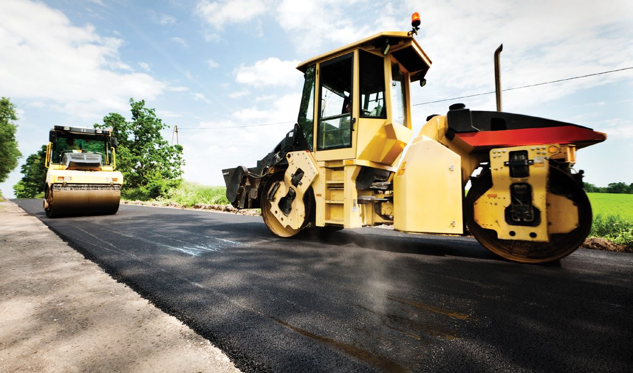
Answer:
[[[463,233],[461,159],[424,135],[413,140],[394,176],[394,229]]]

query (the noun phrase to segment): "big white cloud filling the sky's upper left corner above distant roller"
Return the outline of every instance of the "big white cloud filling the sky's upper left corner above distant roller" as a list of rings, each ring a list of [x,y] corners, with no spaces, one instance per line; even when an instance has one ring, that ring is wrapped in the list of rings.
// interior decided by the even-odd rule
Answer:
[[[123,40],[77,27],[58,10],[30,1],[0,2],[0,91],[80,117],[125,110],[129,97],[152,100],[167,87],[120,60]]]

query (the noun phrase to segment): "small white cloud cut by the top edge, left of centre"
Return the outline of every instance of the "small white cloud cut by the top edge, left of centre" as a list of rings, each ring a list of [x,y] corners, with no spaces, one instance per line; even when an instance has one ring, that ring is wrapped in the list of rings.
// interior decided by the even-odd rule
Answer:
[[[218,30],[227,23],[248,22],[264,11],[266,4],[262,0],[201,0],[196,6],[196,12]]]

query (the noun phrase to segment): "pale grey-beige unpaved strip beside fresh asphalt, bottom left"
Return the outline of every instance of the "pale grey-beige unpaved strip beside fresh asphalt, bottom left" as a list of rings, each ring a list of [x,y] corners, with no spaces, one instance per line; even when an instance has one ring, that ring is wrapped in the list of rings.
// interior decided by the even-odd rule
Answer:
[[[239,372],[13,202],[0,227],[1,372]]]

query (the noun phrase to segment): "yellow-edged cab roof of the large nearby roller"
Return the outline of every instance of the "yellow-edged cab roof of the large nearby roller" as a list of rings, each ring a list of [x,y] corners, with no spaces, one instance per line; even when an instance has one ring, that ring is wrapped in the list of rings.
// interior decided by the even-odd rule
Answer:
[[[387,54],[390,54],[411,74],[411,82],[417,82],[426,75],[431,66],[429,56],[422,50],[418,42],[413,39],[413,36],[409,35],[408,32],[398,31],[380,32],[379,34],[358,40],[347,46],[334,49],[334,51],[320,54],[307,61],[303,61],[297,66],[297,69],[305,73],[308,66],[353,51],[354,49],[365,49],[365,51],[380,53],[387,44],[390,46]]]

